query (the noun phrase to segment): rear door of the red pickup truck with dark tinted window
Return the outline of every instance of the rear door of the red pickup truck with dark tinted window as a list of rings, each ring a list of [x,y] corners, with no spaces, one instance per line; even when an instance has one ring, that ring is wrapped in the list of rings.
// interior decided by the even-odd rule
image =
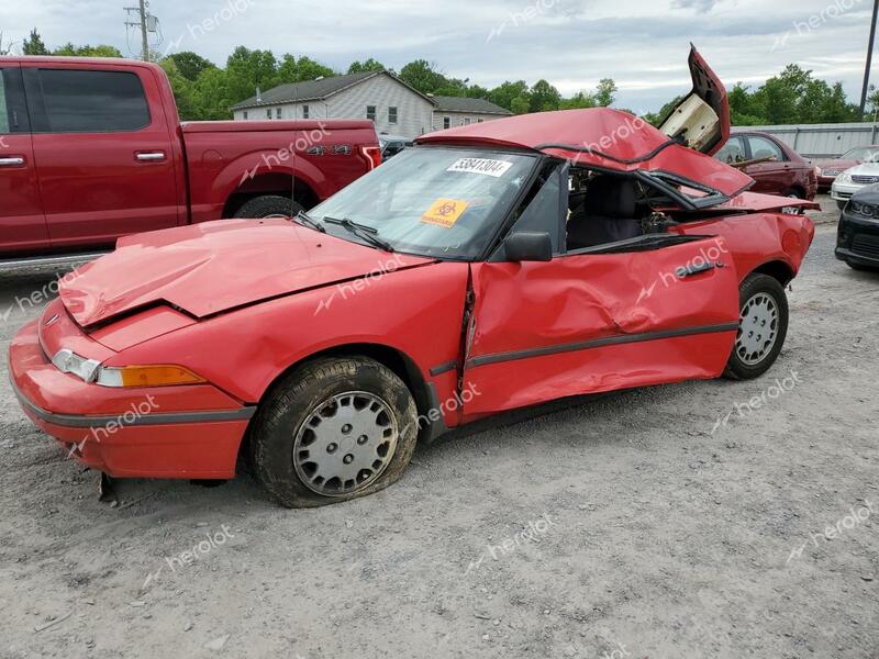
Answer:
[[[178,225],[176,134],[151,68],[24,63],[22,72],[53,247],[109,247]]]

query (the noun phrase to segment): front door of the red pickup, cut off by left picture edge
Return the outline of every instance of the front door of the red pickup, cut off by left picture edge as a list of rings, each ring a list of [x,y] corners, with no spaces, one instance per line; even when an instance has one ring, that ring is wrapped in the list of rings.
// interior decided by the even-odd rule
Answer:
[[[48,246],[21,69],[0,65],[0,253]]]

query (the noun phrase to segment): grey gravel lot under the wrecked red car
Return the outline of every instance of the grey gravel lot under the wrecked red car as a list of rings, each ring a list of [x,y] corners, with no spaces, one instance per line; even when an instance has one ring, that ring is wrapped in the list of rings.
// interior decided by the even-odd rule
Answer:
[[[770,376],[510,415],[316,511],[246,474],[111,507],[3,386],[0,657],[879,657],[879,275],[834,232]],[[0,275],[3,349],[54,275]]]

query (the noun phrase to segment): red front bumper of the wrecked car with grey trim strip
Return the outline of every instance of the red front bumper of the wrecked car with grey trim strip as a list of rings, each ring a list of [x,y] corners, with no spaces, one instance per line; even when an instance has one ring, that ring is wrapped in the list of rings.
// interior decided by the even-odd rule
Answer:
[[[209,384],[113,389],[86,383],[49,361],[40,343],[42,322],[25,325],[12,339],[10,380],[27,417],[70,457],[112,477],[234,477],[256,407]]]

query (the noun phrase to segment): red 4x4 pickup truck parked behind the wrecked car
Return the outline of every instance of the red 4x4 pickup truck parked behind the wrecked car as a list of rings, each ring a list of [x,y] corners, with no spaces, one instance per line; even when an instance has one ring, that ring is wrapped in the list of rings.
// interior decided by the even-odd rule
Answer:
[[[309,209],[381,161],[370,121],[180,123],[155,64],[0,57],[0,259]],[[293,172],[296,176],[293,177]]]

